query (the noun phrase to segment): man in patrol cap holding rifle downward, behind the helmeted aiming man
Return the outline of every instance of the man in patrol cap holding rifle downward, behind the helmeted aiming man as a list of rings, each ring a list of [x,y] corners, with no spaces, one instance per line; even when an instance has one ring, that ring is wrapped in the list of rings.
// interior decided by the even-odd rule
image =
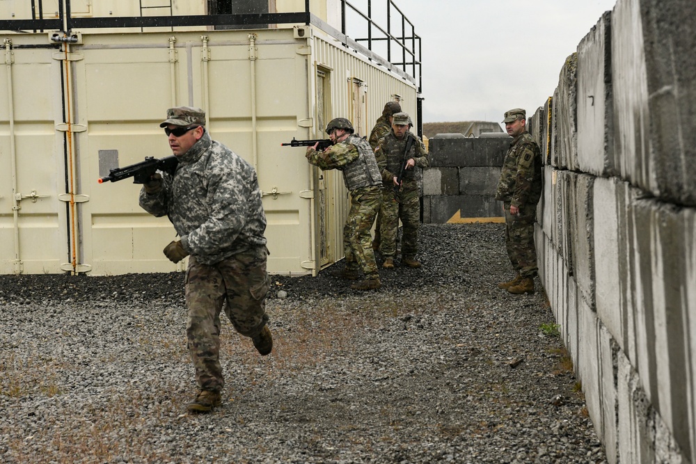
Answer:
[[[400,219],[404,225],[401,242],[402,264],[409,267],[420,267],[420,262],[416,259],[418,227],[420,225],[420,196],[415,167],[427,168],[430,163],[422,141],[409,131],[409,120],[408,114],[396,113],[393,116],[392,130],[380,139],[374,152],[377,162],[385,166],[382,170],[384,188],[380,249],[384,257],[382,267],[386,269],[394,267]],[[409,138],[411,138],[410,147]],[[409,147],[407,153],[406,147]],[[402,184],[399,186],[397,177],[404,161],[406,161],[406,170]]]

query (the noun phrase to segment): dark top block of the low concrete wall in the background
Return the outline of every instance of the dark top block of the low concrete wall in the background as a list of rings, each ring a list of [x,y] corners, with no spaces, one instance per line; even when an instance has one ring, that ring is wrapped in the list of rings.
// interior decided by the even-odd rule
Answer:
[[[512,138],[466,137],[442,138],[434,136],[429,142],[430,166],[503,166],[505,153]]]

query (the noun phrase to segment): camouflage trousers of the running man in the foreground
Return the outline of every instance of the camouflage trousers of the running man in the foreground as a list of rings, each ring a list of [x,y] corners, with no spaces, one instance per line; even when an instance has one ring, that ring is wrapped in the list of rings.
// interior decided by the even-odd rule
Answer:
[[[257,246],[223,261],[207,265],[189,257],[186,271],[186,336],[202,390],[219,391],[224,385],[220,366],[220,312],[246,337],[258,335],[266,325],[266,294],[271,279],[266,271],[268,249]]]

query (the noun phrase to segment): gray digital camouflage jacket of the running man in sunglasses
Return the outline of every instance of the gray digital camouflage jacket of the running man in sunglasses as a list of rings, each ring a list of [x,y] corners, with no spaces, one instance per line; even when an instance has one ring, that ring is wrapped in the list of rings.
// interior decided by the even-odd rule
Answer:
[[[215,264],[251,246],[266,244],[266,215],[256,171],[208,132],[178,157],[173,176],[162,173],[162,189],[140,192],[140,205],[167,215],[182,245],[198,262]]]

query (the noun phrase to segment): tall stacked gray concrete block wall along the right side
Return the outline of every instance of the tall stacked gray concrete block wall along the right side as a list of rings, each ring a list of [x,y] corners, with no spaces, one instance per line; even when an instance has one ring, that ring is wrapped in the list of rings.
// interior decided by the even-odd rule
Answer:
[[[618,0],[530,122],[539,277],[610,463],[696,463],[694,49],[695,1]]]

